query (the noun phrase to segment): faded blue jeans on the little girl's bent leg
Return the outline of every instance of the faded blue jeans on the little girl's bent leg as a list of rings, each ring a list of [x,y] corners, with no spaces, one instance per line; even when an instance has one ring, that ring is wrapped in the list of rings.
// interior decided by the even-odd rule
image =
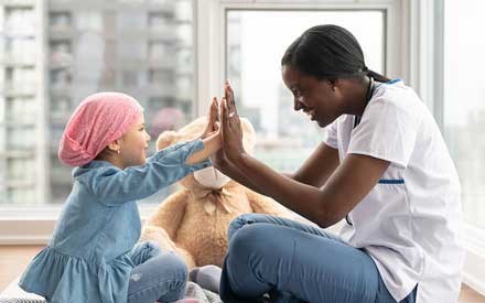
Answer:
[[[144,242],[134,249],[131,259],[137,267],[131,271],[128,303],[165,303],[183,297],[187,268],[179,256]]]

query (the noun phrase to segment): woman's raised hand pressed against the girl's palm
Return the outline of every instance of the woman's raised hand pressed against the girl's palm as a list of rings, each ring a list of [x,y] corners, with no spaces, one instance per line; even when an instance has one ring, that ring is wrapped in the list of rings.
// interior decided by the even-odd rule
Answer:
[[[242,129],[236,110],[234,91],[228,80],[225,85],[225,97],[220,106],[220,133],[223,137],[224,154],[234,164],[246,153],[242,145]]]

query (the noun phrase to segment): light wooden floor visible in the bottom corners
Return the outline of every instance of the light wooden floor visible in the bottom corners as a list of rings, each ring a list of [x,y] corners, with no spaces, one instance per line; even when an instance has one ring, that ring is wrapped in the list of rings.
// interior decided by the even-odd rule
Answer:
[[[23,271],[41,249],[42,246],[0,246],[0,291]],[[485,296],[463,285],[459,303],[485,303]]]

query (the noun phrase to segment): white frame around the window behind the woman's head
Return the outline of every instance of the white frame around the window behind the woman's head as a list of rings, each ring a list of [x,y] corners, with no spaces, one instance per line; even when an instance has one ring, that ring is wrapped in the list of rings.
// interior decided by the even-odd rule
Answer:
[[[405,0],[402,2],[407,2]],[[406,63],[398,58],[405,54],[401,45],[409,45],[407,32],[401,26],[399,0],[200,0],[197,1],[197,43],[198,54],[198,100],[211,100],[212,96],[222,96],[222,84],[226,78],[226,14],[229,10],[382,10],[385,12],[384,66],[390,76],[407,79],[409,71]],[[397,33],[397,34],[394,34]],[[220,85],[219,85],[220,84]],[[205,113],[207,102],[198,102],[197,113]]]

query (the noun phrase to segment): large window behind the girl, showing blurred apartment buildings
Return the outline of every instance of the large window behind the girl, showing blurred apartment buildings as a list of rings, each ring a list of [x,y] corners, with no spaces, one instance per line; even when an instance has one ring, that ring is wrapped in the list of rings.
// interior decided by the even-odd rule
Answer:
[[[117,90],[140,101],[152,134],[149,154],[158,133],[194,118],[193,7],[193,0],[0,3],[0,207],[65,201],[72,169],[57,159],[58,142],[90,94]]]

